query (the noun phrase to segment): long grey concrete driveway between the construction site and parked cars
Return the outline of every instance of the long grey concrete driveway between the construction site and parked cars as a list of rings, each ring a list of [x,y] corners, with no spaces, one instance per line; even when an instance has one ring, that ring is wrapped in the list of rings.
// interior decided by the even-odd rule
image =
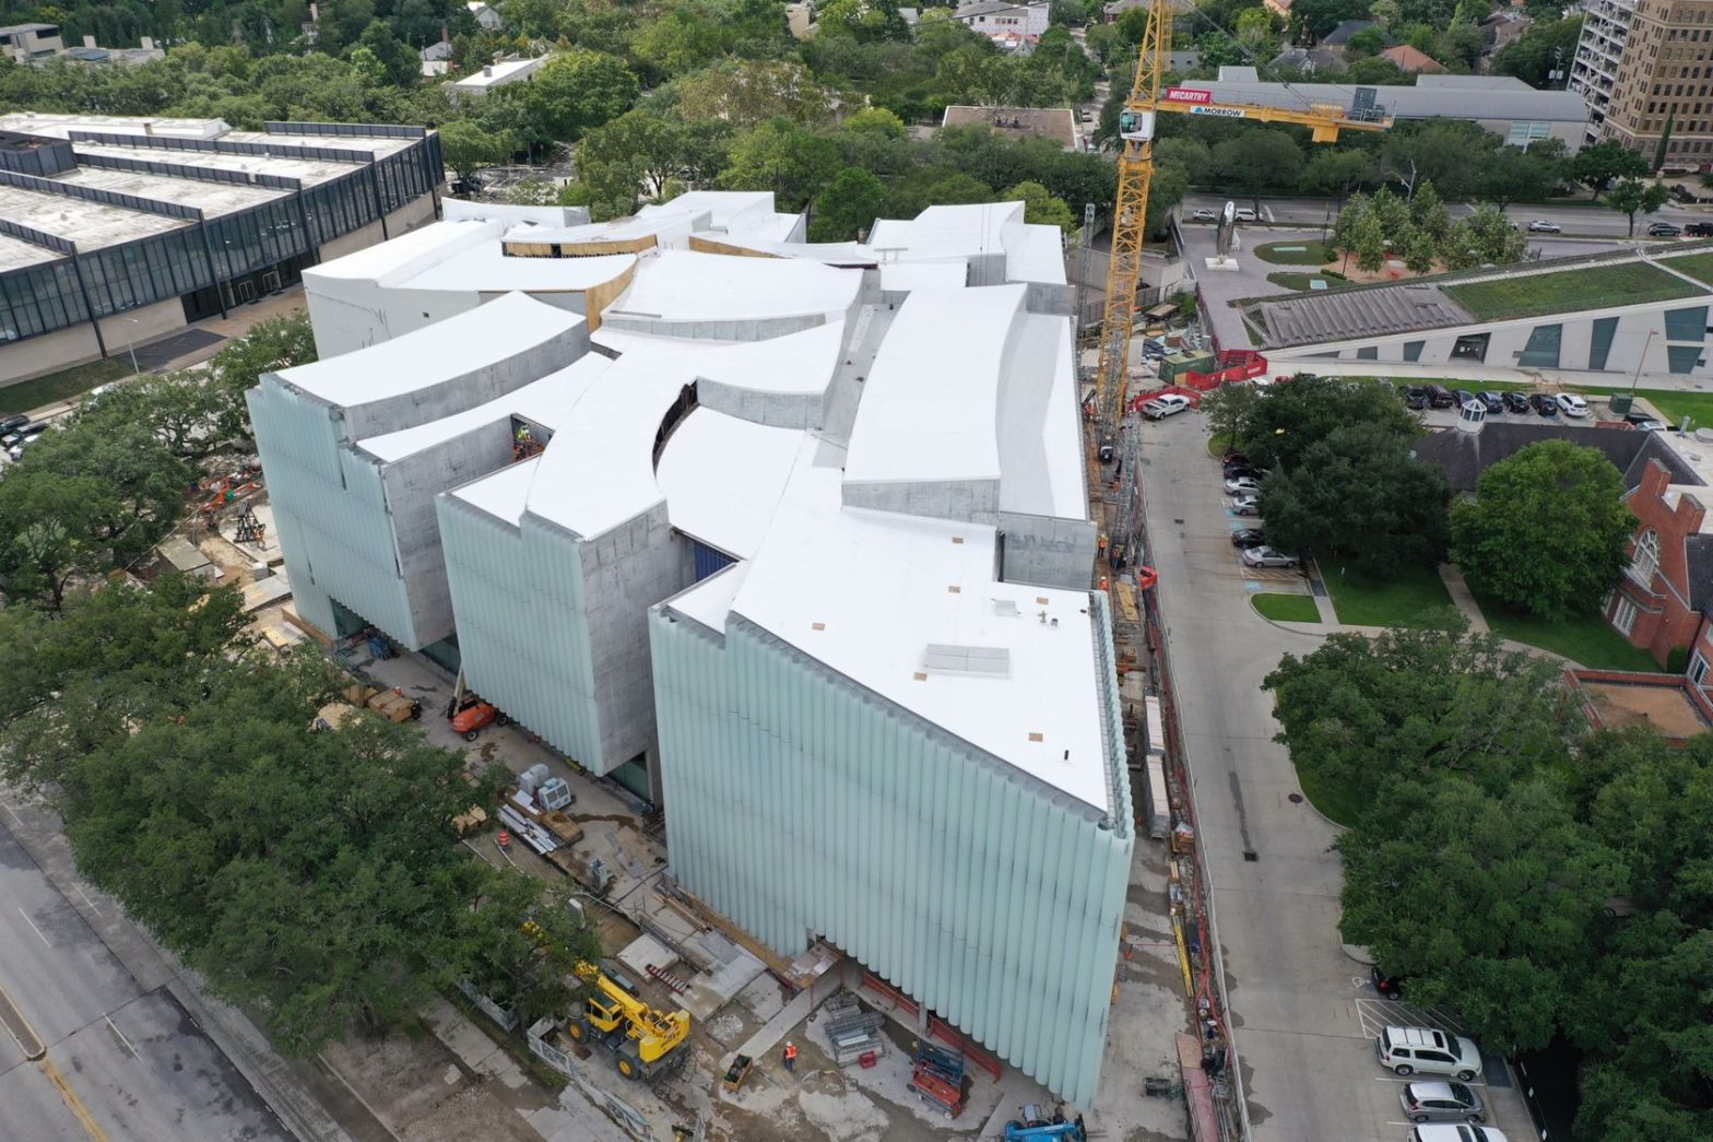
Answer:
[[[1295,770],[1273,741],[1278,724],[1261,691],[1283,653],[1309,653],[1321,640],[1249,607],[1230,530],[1252,521],[1225,513],[1206,422],[1173,417],[1141,432],[1149,562],[1254,1139],[1401,1139],[1400,1080],[1374,1061],[1374,1032],[1403,1010],[1382,1001],[1367,967],[1341,948],[1336,828],[1292,802]],[[1429,1019],[1446,1022],[1437,1012]],[[1506,1082],[1489,1061],[1495,1072]],[[1501,1104],[1495,1125],[1526,1137],[1514,1092],[1487,1094]]]

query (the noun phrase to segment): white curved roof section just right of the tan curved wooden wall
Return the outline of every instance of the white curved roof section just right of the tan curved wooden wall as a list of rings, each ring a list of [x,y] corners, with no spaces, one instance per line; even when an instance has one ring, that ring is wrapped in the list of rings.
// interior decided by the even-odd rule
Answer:
[[[606,309],[658,321],[745,321],[824,314],[843,317],[862,271],[778,257],[665,250],[646,259],[630,288]]]

